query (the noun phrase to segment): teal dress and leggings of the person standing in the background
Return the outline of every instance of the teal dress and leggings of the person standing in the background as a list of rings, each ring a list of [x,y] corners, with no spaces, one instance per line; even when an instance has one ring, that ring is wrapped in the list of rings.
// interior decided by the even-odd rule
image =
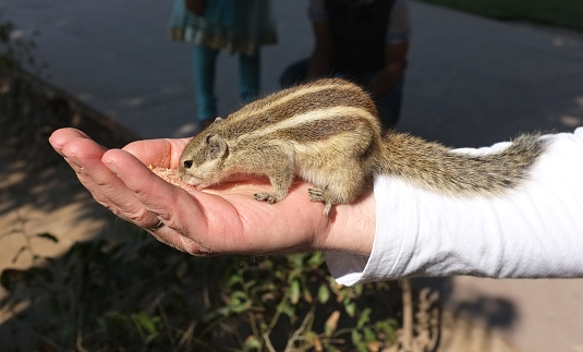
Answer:
[[[277,43],[270,0],[207,0],[203,15],[174,0],[170,17],[172,40],[194,44],[193,69],[198,120],[217,117],[215,72],[220,49],[236,53],[242,102],[259,94],[262,45]]]

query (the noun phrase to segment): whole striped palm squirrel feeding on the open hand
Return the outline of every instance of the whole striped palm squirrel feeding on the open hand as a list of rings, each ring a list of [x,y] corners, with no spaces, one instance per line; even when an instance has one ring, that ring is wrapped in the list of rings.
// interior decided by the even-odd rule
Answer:
[[[294,177],[311,182],[312,202],[359,198],[377,174],[453,196],[496,195],[529,177],[545,139],[522,135],[506,149],[472,156],[394,131],[382,132],[372,98],[357,85],[328,78],[292,87],[217,118],[184,148],[179,177],[206,187],[235,173],[269,178],[276,203]]]

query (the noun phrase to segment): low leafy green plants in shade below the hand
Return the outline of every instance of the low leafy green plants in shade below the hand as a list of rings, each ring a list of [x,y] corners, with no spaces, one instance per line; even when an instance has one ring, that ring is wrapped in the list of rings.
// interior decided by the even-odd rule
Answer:
[[[397,339],[399,291],[339,286],[321,253],[196,258],[133,235],[80,242],[58,259],[3,270],[10,296],[1,303],[13,317],[0,333],[27,336],[4,348],[379,351]]]

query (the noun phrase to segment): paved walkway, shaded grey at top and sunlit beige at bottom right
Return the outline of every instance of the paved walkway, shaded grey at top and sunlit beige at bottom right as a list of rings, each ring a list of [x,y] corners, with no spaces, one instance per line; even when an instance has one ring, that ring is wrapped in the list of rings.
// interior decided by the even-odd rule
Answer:
[[[144,137],[193,133],[191,48],[170,43],[171,1],[3,0],[17,35],[40,31],[54,85]],[[263,83],[311,51],[304,4],[278,1],[280,44]],[[583,125],[583,37],[412,3],[414,35],[399,130],[453,146]],[[238,106],[235,61],[221,56],[220,113]],[[90,134],[90,131],[87,131]],[[445,302],[522,351],[583,351],[583,280],[432,280]]]

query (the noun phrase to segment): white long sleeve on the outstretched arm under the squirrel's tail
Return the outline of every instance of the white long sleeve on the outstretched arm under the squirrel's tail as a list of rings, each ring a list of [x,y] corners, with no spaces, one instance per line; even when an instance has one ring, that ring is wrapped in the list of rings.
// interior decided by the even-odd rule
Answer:
[[[327,253],[330,271],[342,284],[453,275],[583,277],[583,128],[543,138],[549,147],[530,180],[503,196],[448,197],[376,178],[373,252]]]

